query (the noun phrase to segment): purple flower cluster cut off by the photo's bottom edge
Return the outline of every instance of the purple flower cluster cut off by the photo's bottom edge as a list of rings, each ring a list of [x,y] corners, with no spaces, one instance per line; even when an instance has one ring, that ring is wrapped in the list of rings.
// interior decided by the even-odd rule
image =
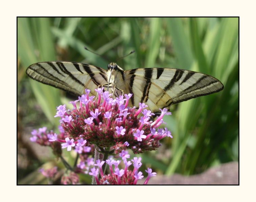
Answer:
[[[123,150],[122,153],[119,154],[120,157],[122,157],[123,163],[125,165],[124,169],[119,169],[118,165],[121,163],[120,160],[106,160],[106,163],[109,165],[110,174],[104,175],[102,166],[105,163],[105,161],[97,160],[95,167],[91,169],[91,172],[89,172],[90,175],[95,177],[95,180],[97,184],[137,184],[137,181],[139,179],[142,179],[144,176],[142,175],[142,172],[139,171],[139,168],[141,167],[141,157],[137,158],[134,157],[132,162],[126,160],[126,158],[130,158],[130,155],[128,155],[128,151]],[[128,170],[128,167],[133,164],[134,169]],[[113,169],[114,165],[114,169]],[[156,176],[156,172],[152,172],[152,169],[148,168],[145,170],[148,173],[148,176],[144,182],[144,184],[148,183],[148,180],[150,177]],[[99,179],[99,173],[101,178]]]

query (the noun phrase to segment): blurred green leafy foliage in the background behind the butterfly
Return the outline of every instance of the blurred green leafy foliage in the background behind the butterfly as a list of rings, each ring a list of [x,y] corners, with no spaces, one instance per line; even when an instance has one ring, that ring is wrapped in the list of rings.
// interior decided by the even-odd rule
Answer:
[[[181,68],[222,81],[223,91],[171,108],[172,116],[165,121],[173,139],[164,139],[158,151],[142,154],[146,166],[189,175],[238,161],[238,18],[18,18],[20,72],[33,63],[56,60],[106,69],[111,61],[84,46],[112,61],[136,50],[118,61],[125,70]],[[28,89],[56,126],[59,121],[53,116],[65,94],[20,75],[18,87],[30,83]]]

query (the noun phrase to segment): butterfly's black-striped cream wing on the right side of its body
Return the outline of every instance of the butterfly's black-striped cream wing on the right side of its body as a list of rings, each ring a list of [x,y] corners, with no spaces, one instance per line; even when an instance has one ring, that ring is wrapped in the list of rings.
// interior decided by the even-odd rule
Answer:
[[[126,86],[134,94],[132,102],[136,105],[145,102],[153,112],[224,88],[212,76],[182,69],[132,69],[124,73]]]

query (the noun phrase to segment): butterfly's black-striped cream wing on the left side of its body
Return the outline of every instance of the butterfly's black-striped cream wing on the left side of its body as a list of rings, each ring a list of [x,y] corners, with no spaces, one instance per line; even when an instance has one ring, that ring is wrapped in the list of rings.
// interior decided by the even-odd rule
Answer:
[[[106,70],[76,62],[40,62],[30,65],[26,73],[29,77],[47,85],[80,96],[85,88],[94,89],[107,83]]]

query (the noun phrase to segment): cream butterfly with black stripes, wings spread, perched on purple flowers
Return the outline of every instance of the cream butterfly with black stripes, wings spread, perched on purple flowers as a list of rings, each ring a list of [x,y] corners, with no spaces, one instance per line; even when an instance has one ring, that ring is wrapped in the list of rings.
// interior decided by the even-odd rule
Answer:
[[[224,86],[216,78],[189,70],[143,68],[124,71],[116,63],[108,70],[76,62],[40,62],[30,65],[29,77],[47,85],[80,96],[85,89],[107,87],[113,97],[132,93],[130,106],[144,102],[153,113],[199,96],[221,91]]]

